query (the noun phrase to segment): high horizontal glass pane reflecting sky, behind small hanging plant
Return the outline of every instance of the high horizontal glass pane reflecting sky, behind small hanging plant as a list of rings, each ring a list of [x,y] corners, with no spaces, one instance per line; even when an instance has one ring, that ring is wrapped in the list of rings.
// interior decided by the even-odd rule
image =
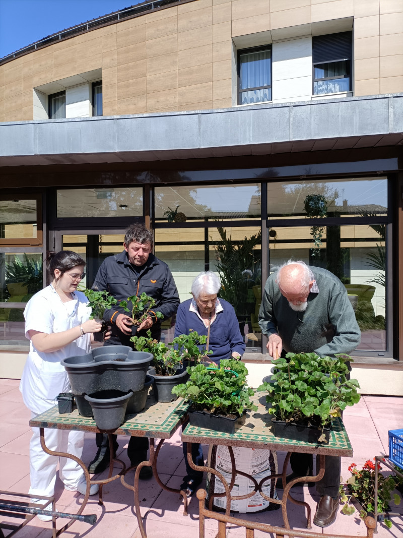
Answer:
[[[387,179],[380,177],[268,183],[268,218],[307,217],[304,200],[311,194],[325,197],[328,217],[387,215]]]

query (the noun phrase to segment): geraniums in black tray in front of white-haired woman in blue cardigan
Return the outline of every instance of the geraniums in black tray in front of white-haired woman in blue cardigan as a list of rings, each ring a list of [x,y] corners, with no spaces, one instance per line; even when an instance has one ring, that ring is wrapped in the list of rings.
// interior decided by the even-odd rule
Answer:
[[[189,380],[172,392],[190,402],[192,425],[234,433],[244,424],[246,410],[257,410],[246,383],[248,370],[239,360],[223,359],[219,367],[189,366],[188,373]]]

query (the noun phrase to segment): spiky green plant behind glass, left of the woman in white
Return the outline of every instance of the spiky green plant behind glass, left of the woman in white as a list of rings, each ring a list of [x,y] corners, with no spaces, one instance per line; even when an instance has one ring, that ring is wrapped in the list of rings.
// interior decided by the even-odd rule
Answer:
[[[28,293],[37,293],[43,287],[43,265],[42,258],[35,260],[24,254],[21,260],[15,256],[11,264],[5,264],[5,284],[21,282],[26,284]]]

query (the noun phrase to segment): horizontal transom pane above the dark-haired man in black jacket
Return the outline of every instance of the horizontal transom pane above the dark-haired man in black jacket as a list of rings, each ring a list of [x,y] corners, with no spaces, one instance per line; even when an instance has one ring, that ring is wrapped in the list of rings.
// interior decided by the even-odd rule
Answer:
[[[57,217],[141,217],[142,187],[57,190]]]

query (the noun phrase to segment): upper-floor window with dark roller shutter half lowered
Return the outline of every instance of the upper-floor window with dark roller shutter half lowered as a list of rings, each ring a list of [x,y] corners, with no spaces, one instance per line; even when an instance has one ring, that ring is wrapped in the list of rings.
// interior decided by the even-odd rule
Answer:
[[[313,95],[351,90],[351,32],[312,38]]]

